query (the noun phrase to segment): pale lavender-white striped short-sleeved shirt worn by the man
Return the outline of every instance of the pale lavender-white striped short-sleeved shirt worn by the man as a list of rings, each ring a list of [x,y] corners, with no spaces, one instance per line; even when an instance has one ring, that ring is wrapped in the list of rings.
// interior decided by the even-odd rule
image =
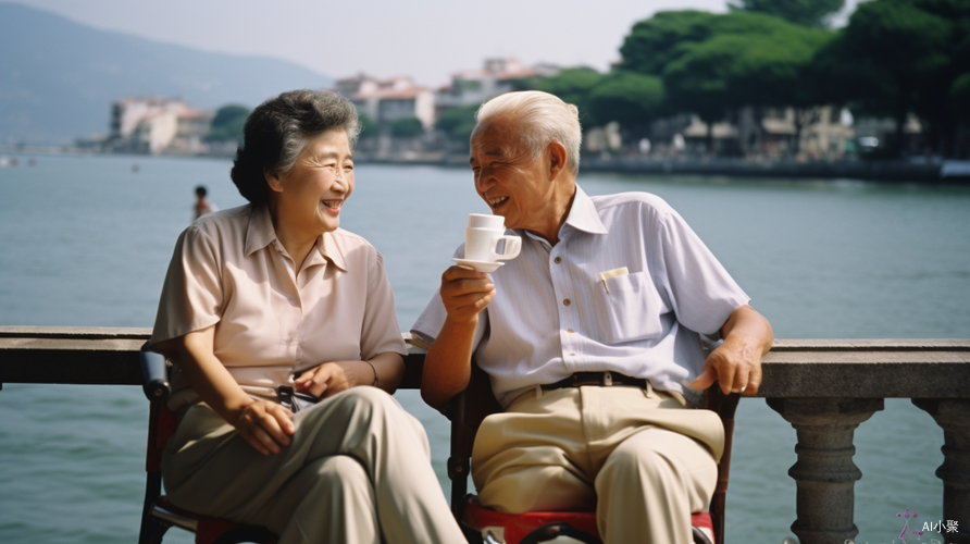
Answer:
[[[576,187],[555,247],[514,234],[522,250],[493,272],[496,296],[474,341],[503,407],[581,371],[699,397],[689,388],[705,359],[698,333],[717,336],[749,298],[673,208],[646,193],[590,198]],[[446,317],[435,295],[412,333],[430,344]]]

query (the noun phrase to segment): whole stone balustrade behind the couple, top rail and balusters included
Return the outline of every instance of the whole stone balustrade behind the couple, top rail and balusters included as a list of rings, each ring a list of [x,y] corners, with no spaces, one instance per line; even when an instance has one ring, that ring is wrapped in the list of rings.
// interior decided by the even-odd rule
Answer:
[[[138,350],[148,329],[0,326],[3,383],[140,385]],[[407,336],[407,335],[406,335]],[[410,347],[401,387],[420,386],[424,351]],[[759,397],[795,428],[798,460],[792,530],[801,544],[844,544],[858,534],[853,434],[883,409],[911,398],[943,428],[944,519],[970,523],[970,341],[780,339],[762,359]],[[970,543],[970,532],[947,535]]]

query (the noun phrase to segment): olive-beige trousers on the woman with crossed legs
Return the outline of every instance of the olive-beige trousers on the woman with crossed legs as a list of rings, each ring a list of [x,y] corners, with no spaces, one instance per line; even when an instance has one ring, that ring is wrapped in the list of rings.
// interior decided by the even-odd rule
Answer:
[[[294,418],[263,456],[207,405],[188,409],[162,461],[172,502],[263,526],[289,543],[463,542],[421,423],[387,393],[353,387]]]

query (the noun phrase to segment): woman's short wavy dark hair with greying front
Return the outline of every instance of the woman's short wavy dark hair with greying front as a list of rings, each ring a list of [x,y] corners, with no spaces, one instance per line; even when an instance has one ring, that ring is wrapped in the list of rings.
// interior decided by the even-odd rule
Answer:
[[[252,110],[242,128],[231,176],[239,193],[253,205],[270,199],[265,173],[289,172],[307,140],[343,128],[357,143],[360,121],[350,100],[323,90],[290,90]]]

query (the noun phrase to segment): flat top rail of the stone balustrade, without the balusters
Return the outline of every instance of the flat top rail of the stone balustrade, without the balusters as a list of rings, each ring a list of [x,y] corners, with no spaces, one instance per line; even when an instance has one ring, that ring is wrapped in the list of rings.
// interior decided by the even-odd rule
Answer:
[[[139,385],[137,353],[150,332],[0,326],[0,383]],[[759,397],[970,398],[966,339],[779,339],[772,349]],[[408,351],[401,387],[416,388],[424,350]]]

